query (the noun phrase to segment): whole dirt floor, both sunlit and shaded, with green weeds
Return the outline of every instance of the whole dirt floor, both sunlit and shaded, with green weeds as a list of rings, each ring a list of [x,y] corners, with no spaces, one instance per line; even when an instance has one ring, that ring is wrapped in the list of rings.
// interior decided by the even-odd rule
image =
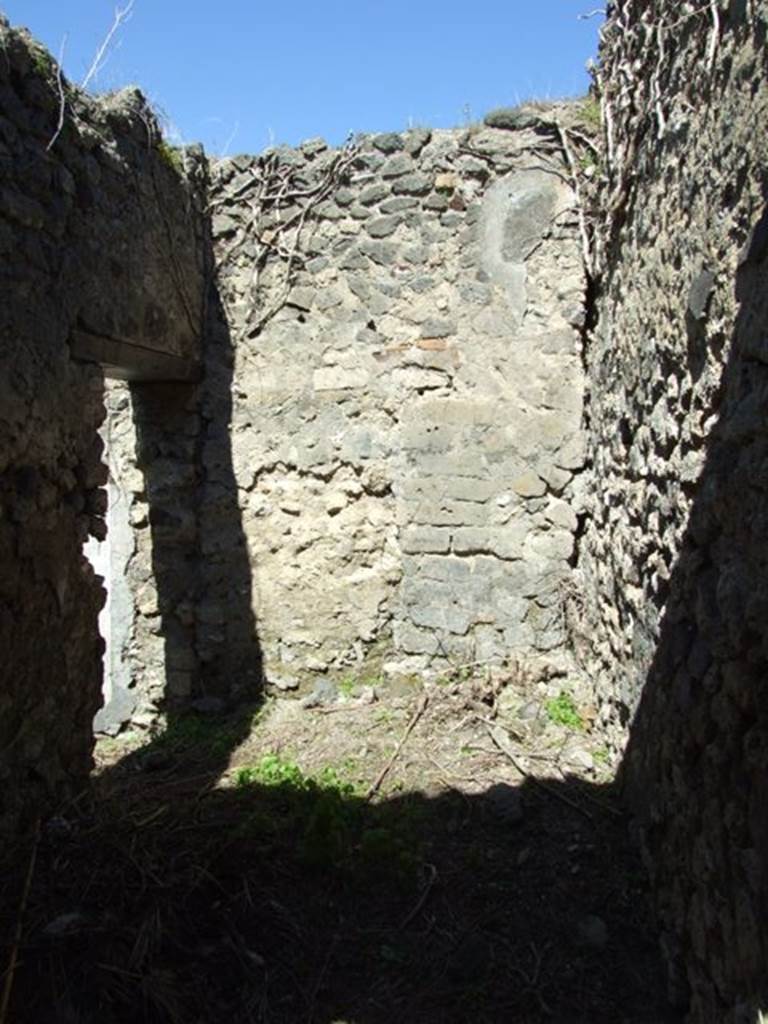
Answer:
[[[4,872],[0,1024],[677,1019],[590,718],[350,677],[101,741]]]

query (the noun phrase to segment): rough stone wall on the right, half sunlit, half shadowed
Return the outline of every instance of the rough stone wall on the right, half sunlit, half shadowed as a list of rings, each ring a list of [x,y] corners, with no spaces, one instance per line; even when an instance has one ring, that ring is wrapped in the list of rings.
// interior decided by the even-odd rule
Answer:
[[[611,5],[579,649],[696,1022],[768,1008],[764,3]]]

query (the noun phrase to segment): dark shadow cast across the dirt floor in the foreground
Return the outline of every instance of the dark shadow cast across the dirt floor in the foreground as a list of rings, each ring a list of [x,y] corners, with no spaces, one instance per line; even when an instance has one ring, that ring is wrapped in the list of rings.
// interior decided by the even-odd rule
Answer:
[[[178,718],[44,826],[11,1020],[679,1019],[610,785],[368,801],[278,755],[222,779],[253,714]]]

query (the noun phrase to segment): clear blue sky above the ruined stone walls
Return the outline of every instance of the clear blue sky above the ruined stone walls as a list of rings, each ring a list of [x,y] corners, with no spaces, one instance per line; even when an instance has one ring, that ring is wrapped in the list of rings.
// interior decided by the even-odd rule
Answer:
[[[125,5],[127,0],[118,0]],[[81,81],[115,0],[0,0]],[[256,153],[350,131],[446,128],[584,93],[594,0],[134,0],[96,89],[138,84],[174,141]]]

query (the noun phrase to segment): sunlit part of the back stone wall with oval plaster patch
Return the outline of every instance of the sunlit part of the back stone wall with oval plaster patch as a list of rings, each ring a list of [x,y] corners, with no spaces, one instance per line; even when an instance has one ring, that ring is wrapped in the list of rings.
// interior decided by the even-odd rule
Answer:
[[[233,481],[278,685],[563,642],[585,278],[553,116],[213,164]],[[226,621],[225,588],[204,601]]]

